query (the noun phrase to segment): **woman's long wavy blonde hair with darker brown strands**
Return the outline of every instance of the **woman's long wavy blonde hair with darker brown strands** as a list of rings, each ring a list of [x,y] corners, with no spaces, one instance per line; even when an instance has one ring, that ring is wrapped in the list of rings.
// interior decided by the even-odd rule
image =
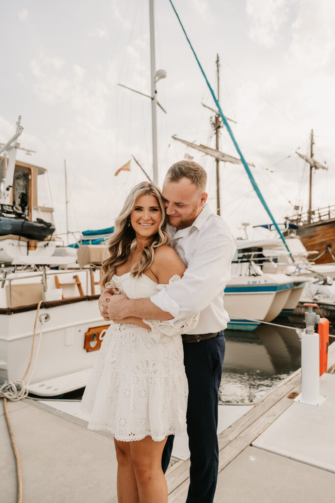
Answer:
[[[130,213],[134,209],[136,199],[144,194],[152,194],[157,198],[161,210],[161,220],[158,231],[151,236],[151,242],[143,248],[138,261],[131,268],[131,276],[139,278],[151,266],[154,249],[170,242],[171,236],[166,230],[167,217],[160,189],[151,182],[141,182],[130,191],[119,216],[115,219],[114,233],[108,241],[109,258],[104,260],[102,264],[102,287],[111,281],[117,267],[127,262],[131,251],[136,246],[136,236],[130,223]]]

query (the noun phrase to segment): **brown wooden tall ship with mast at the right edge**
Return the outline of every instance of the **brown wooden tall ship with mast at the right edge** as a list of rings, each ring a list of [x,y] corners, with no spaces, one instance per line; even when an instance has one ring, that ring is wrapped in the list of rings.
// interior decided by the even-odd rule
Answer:
[[[297,225],[296,233],[308,251],[318,251],[317,257],[311,257],[316,264],[335,262],[335,205],[312,209],[313,170],[327,170],[328,167],[314,159],[314,133],[310,134],[310,154],[296,152],[309,165],[309,200],[308,210],[296,212],[285,217],[287,222]],[[299,208],[296,208],[299,211]]]

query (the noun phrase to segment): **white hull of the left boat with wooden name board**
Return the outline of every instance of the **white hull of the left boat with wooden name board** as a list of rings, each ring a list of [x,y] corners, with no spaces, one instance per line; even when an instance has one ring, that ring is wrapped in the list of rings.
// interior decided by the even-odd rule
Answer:
[[[28,389],[40,396],[52,396],[85,386],[99,353],[84,349],[85,333],[90,327],[106,325],[98,310],[98,300],[41,309],[40,314],[49,314],[50,319],[43,325],[35,366],[41,328],[40,321],[37,322],[34,357],[26,378],[26,382],[31,378]],[[35,316],[36,310],[0,316],[0,380],[23,378],[33,344]],[[73,379],[76,373],[86,376],[81,379],[80,385]],[[64,379],[66,376],[67,380]],[[42,385],[50,379],[54,380],[53,386]],[[57,379],[61,382],[60,386],[56,386]],[[40,386],[37,387],[36,383]],[[37,393],[38,390],[40,393]]]

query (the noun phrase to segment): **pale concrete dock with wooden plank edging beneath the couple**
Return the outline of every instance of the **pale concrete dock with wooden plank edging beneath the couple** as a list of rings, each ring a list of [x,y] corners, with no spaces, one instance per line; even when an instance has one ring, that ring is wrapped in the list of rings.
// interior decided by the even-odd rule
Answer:
[[[329,347],[332,360],[334,350],[335,347]],[[299,379],[297,374],[291,381],[297,389]],[[286,394],[278,402],[286,403],[285,410],[280,409],[278,403],[270,403],[269,410],[259,412],[261,415],[254,421],[256,409],[261,411],[261,405],[252,410],[246,408],[246,412],[242,411],[238,420],[219,435],[220,471],[214,503],[334,501],[335,430],[332,426],[329,431],[328,425],[333,425],[335,420],[335,375],[325,374],[320,379],[320,392],[327,396],[320,407],[294,402],[291,394],[287,396],[288,389],[284,385]],[[268,398],[264,402],[266,400]],[[302,415],[299,406],[304,407]],[[225,405],[221,407],[224,412]],[[89,431],[86,421],[30,398],[8,402],[8,409],[21,457],[24,503],[117,502],[117,463],[109,434]],[[268,424],[271,415],[271,424]],[[305,433],[302,432],[304,424]],[[315,431],[317,435],[313,436]],[[254,437],[251,441],[249,432]],[[297,432],[300,432],[299,438],[294,443]],[[16,465],[3,403],[0,434],[0,501],[15,503]],[[292,441],[290,435],[293,435]],[[315,463],[310,459],[313,456]],[[188,469],[189,461],[183,459],[169,469],[169,503],[185,502]]]

